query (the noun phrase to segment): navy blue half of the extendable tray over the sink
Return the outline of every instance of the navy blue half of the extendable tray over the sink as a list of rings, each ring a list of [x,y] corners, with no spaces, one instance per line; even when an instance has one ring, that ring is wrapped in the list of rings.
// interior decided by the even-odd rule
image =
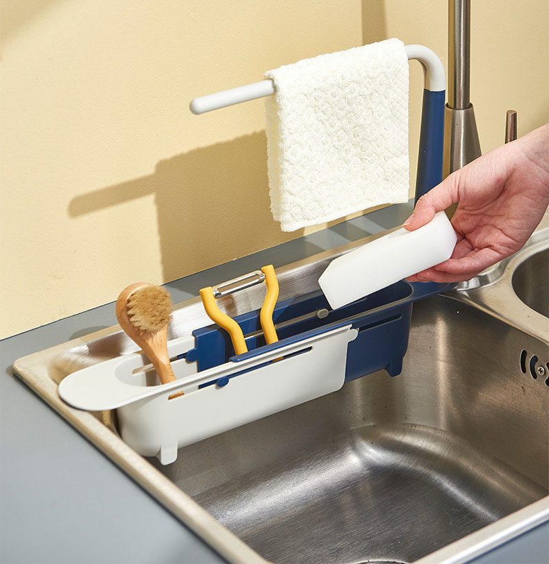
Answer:
[[[322,292],[312,292],[277,304],[274,322],[279,342],[265,345],[263,335],[246,338],[248,352],[235,355],[229,335],[217,325],[192,332],[196,346],[186,354],[189,362],[197,361],[198,370],[218,366],[229,361],[241,362],[267,351],[351,325],[359,334],[347,347],[345,381],[354,380],[377,370],[391,376],[400,374],[402,357],[406,354],[413,301],[453,288],[436,283],[408,283],[400,281],[388,288],[355,301],[348,306],[329,311],[319,319],[318,310],[328,308]],[[243,333],[261,330],[259,310],[235,318]],[[282,324],[282,326],[280,326]]]

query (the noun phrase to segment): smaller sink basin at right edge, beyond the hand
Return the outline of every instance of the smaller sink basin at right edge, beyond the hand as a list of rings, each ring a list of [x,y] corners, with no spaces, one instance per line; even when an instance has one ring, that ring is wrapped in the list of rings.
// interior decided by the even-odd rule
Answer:
[[[528,307],[549,317],[549,249],[538,251],[518,265],[513,288]]]

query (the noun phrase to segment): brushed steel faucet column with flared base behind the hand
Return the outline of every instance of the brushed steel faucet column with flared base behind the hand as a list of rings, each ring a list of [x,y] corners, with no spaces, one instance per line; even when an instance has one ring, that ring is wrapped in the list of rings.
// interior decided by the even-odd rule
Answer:
[[[448,65],[444,178],[482,154],[469,91],[470,0],[448,0]]]

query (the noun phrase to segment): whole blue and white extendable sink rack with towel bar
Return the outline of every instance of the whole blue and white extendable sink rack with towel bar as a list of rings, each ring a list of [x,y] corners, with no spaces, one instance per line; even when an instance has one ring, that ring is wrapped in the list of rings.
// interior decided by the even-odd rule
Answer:
[[[408,45],[406,51],[425,71],[418,198],[441,181],[445,76],[427,47]],[[273,92],[271,81],[261,81],[197,98],[190,108],[204,113]],[[400,281],[336,310],[315,290],[274,308],[278,342],[265,343],[254,310],[235,317],[247,352],[235,354],[227,333],[212,324],[168,342],[174,382],[158,385],[145,356],[133,353],[73,372],[58,392],[76,408],[116,409],[126,443],[170,464],[181,447],[334,392],[345,382],[378,370],[400,374],[413,302],[451,288]],[[178,391],[184,394],[174,397]]]

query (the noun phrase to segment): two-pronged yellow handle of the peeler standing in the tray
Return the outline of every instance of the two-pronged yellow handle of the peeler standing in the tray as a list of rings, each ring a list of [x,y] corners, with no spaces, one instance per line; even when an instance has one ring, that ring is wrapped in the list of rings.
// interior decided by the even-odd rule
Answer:
[[[261,323],[261,329],[263,329],[263,334],[265,335],[265,342],[271,345],[273,342],[278,342],[277,331],[274,329],[274,323],[272,322],[272,313],[274,306],[277,305],[279,285],[277,275],[274,274],[274,267],[272,265],[264,266],[261,272],[265,275],[267,292],[263,300],[263,305],[261,306],[261,312],[259,313],[259,322]],[[200,290],[200,297],[202,298],[202,304],[204,304],[204,309],[208,317],[229,333],[235,353],[243,354],[247,352],[248,347],[246,346],[244,333],[242,329],[240,329],[240,325],[218,308],[218,304],[215,303],[213,288],[211,288],[211,286],[202,288],[202,290]]]

